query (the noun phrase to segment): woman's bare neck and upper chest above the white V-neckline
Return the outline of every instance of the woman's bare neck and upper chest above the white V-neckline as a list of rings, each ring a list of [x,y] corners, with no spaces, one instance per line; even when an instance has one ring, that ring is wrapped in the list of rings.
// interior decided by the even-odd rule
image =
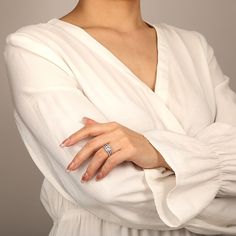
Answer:
[[[157,38],[142,20],[139,0],[80,0],[60,19],[84,28],[154,91]]]

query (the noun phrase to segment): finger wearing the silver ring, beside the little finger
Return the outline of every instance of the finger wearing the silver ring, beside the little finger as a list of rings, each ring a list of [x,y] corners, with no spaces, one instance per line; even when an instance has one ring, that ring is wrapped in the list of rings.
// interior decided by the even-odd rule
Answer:
[[[109,142],[109,144],[111,145],[113,152],[117,152],[120,150],[120,145],[117,141]],[[94,175],[96,174],[96,172],[98,171],[98,169],[101,168],[101,166],[105,163],[107,158],[109,158],[107,152],[104,150],[103,147],[101,147],[95,153],[92,160],[89,162],[87,170],[84,173],[84,178],[82,178],[82,180],[89,181],[90,179],[92,179]]]

